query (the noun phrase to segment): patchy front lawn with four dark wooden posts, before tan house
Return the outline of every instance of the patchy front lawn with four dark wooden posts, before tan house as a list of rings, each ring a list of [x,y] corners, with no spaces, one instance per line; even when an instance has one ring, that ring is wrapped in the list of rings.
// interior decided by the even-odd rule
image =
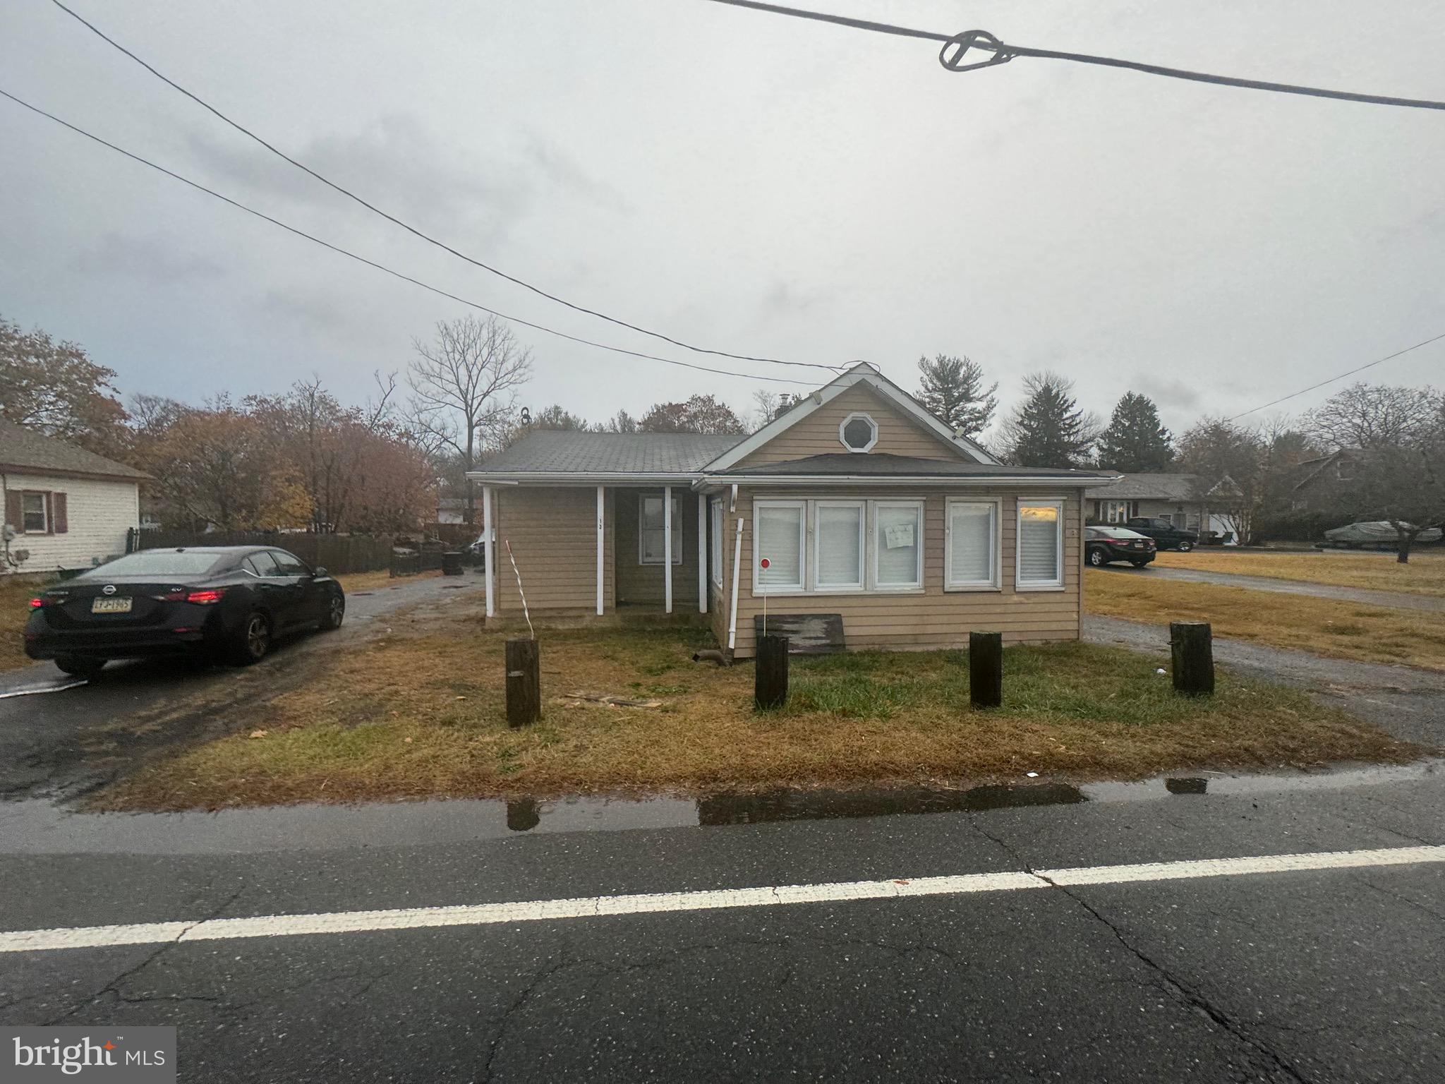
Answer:
[[[1224,675],[1175,697],[1160,659],[1065,643],[1010,648],[1006,707],[968,707],[962,652],[793,659],[786,707],[754,714],[753,666],[689,659],[692,629],[546,630],[546,717],[509,730],[503,637],[474,617],[341,652],[234,737],[143,769],[95,805],[549,796],[1019,778],[1142,778],[1188,767],[1402,762],[1420,753],[1295,689]],[[657,707],[565,702],[569,692]],[[263,736],[253,736],[264,731]]]

